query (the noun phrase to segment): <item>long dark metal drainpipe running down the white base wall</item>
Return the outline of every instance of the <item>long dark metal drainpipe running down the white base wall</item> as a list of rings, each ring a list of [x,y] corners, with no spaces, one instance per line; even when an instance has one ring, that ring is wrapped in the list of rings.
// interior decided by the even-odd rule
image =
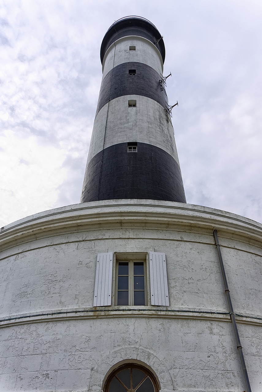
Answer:
[[[231,318],[231,321],[232,321],[233,330],[235,332],[235,337],[236,337],[236,342],[237,342],[237,349],[238,349],[238,354],[240,356],[240,361],[241,361],[241,365],[242,365],[242,370],[243,370],[243,374],[244,374],[246,388],[247,388],[247,392],[251,392],[251,387],[250,387],[249,378],[248,378],[248,374],[247,374],[247,368],[246,368],[246,363],[245,363],[245,359],[244,359],[244,354],[243,354],[243,351],[242,351],[242,346],[241,346],[240,338],[239,338],[239,335],[238,335],[238,329],[237,329],[237,323],[236,323],[236,319],[235,319],[235,313],[234,313],[234,310],[233,310],[233,305],[232,305],[231,298],[230,298],[230,292],[229,292],[229,288],[228,288],[228,285],[227,285],[226,272],[225,272],[225,269],[224,269],[224,263],[223,263],[222,254],[221,254],[221,250],[220,250],[220,245],[219,245],[219,241],[218,241],[217,230],[214,230],[213,234],[214,234],[214,237],[215,237],[218,258],[219,258],[221,272],[222,272],[222,277],[223,277],[223,281],[224,281],[225,293],[226,293],[226,296],[227,296],[227,302],[228,302],[228,307],[229,307],[229,314],[230,314],[230,318]]]

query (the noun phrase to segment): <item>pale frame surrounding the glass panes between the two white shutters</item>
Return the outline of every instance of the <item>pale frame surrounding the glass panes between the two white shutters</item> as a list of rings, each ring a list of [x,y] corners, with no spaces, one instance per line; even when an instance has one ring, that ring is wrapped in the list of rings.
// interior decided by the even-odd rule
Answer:
[[[118,305],[118,263],[121,261],[128,261],[128,305]],[[144,305],[134,305],[134,274],[133,274],[133,263],[134,262],[144,262],[144,294],[145,294],[145,304]],[[114,281],[114,305],[115,306],[148,306],[149,304],[149,261],[147,253],[116,253],[114,260],[115,270],[113,271]],[[142,290],[139,290],[142,291]]]

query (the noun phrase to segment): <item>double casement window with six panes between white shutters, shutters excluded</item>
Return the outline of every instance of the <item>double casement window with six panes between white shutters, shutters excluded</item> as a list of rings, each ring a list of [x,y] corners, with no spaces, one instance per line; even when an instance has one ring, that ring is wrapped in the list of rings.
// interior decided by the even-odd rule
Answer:
[[[116,265],[116,305],[146,305],[145,261],[124,260]]]

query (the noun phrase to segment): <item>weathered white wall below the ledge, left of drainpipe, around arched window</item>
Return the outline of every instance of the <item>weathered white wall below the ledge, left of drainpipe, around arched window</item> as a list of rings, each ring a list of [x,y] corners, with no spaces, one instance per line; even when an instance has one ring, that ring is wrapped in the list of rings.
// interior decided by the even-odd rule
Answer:
[[[107,371],[122,359],[147,363],[162,390],[244,388],[228,322],[136,317],[69,320],[5,328],[1,339],[7,354],[1,390],[101,390]],[[260,370],[255,370],[258,376]]]

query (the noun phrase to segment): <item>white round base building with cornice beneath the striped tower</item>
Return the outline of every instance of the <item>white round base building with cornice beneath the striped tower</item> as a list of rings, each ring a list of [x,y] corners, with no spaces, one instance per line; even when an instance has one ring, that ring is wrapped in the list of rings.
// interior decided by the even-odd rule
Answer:
[[[213,230],[260,392],[262,225],[156,200],[82,203],[2,228],[0,390],[246,390]]]

